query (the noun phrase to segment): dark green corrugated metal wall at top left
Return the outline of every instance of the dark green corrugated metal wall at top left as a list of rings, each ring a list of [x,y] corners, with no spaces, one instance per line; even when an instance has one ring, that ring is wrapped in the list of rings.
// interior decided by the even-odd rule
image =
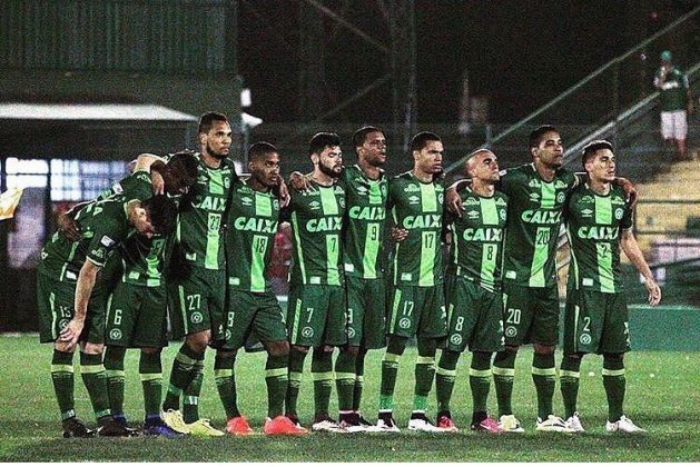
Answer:
[[[2,0],[0,67],[235,71],[231,0]],[[227,38],[229,38],[227,40]],[[227,44],[227,41],[229,42]]]

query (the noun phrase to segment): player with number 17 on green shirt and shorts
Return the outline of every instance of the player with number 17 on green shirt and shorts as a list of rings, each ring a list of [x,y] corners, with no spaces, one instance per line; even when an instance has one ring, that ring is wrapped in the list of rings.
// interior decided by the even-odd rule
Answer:
[[[435,375],[435,351],[446,335],[442,276],[443,143],[423,131],[411,140],[413,170],[390,180],[388,207],[394,223],[407,236],[397,241],[391,275],[394,291],[388,305],[388,345],[382,360],[377,429],[398,431],[393,418],[398,361],[407,340],[417,335],[415,393],[410,430],[442,431],[425,416]]]

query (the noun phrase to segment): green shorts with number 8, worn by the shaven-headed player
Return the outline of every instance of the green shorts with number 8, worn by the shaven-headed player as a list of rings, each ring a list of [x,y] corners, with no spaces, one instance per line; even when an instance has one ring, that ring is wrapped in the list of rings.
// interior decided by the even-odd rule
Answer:
[[[503,295],[464,277],[445,278],[447,349],[494,352],[504,349]]]

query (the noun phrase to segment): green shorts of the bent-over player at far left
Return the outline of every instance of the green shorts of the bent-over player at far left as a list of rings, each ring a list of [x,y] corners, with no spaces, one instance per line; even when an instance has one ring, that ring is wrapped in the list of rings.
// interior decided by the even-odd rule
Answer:
[[[80,342],[105,341],[105,291],[97,287],[88,302]],[[55,342],[72,319],[76,310],[76,282],[62,282],[37,272],[37,304],[39,308],[39,341]]]

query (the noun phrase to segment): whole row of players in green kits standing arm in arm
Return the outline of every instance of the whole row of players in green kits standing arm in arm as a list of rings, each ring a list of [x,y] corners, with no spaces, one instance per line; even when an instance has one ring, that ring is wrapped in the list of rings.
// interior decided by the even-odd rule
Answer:
[[[467,348],[470,428],[524,431],[511,399],[517,349],[528,344],[534,347],[535,430],[584,431],[576,405],[581,360],[600,354],[605,430],[643,431],[623,410],[630,336],[620,250],[643,276],[652,306],[661,290],[634,239],[634,188],[617,178],[610,142],[585,146],[585,171],[574,173],[562,168],[559,131],[542,126],[530,135],[528,163],[500,170],[496,155],[479,149],[466,159],[466,178],[445,187],[444,147],[435,133],[415,135],[413,169],[390,176],[381,129],[354,133],[352,166],[344,165],[339,137],[321,132],[308,145],[313,171],[294,172],[287,186],[282,155],[268,142],[248,148],[249,176],[236,173],[231,136],[224,115],[201,116],[198,152],[139,156],[131,176],[75,207],[46,242],[37,281],[40,340],[53,344],[63,437],[139,433],[124,413],[128,348],[140,349],[140,433],[250,435],[237,405],[246,388],[237,386],[235,368],[237,351],[256,342],[267,351],[264,434],[309,433],[297,410],[299,396],[309,391],[302,385],[308,354],[310,431],[398,433],[394,393],[413,338],[418,356],[411,431],[460,430],[451,398]],[[282,222],[290,223],[293,242],[286,314],[267,275]],[[558,377],[562,226],[571,265]],[[444,259],[443,245],[450,249]],[[184,341],[164,385],[168,322],[172,338]],[[198,408],[208,348],[228,420],[224,430]],[[365,357],[384,348],[372,423],[359,410]],[[95,430],[75,410],[76,349]],[[493,415],[486,404],[492,379]],[[558,379],[563,417],[553,411]],[[435,418],[427,413],[433,382]],[[337,418],[329,410],[334,386]]]

